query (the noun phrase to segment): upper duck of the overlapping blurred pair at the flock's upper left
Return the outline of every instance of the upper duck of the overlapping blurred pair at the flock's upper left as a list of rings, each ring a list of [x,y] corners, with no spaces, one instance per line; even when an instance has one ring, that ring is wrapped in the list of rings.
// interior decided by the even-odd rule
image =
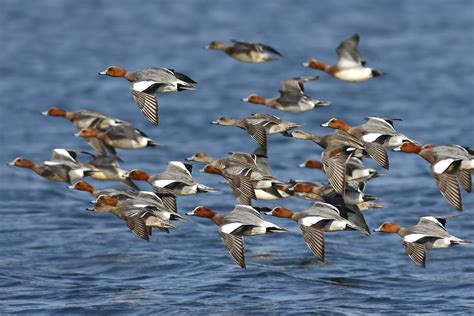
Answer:
[[[77,130],[90,127],[97,119],[101,120],[101,127],[108,128],[117,125],[130,125],[127,121],[113,118],[99,112],[90,110],[79,110],[75,112],[66,111],[60,107],[51,107],[46,111],[41,112],[42,115],[53,117],[64,117],[74,124]]]

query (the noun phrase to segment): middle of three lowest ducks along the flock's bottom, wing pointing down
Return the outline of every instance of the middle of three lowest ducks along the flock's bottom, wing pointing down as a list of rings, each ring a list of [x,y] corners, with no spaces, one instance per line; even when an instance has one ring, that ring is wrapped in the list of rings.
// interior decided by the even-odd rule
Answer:
[[[344,230],[361,230],[352,222],[343,218],[339,210],[328,203],[316,202],[310,208],[295,213],[285,207],[275,207],[266,215],[289,218],[297,222],[303,239],[313,255],[324,262],[324,233]]]

